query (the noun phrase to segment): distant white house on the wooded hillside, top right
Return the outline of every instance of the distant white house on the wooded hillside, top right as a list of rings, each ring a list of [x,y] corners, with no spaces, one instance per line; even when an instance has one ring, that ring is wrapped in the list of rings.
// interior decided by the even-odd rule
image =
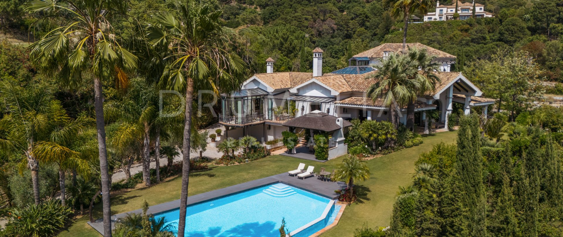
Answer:
[[[462,3],[461,1],[457,0],[457,13],[459,14],[458,20],[467,20],[473,15],[473,0],[472,3]],[[445,6],[440,5],[440,1],[436,1],[436,12],[428,12],[424,16],[424,21],[446,21],[446,20],[455,20],[454,19],[455,13],[455,3],[452,6]],[[475,17],[493,17],[493,13],[485,11],[485,5],[475,3]]]

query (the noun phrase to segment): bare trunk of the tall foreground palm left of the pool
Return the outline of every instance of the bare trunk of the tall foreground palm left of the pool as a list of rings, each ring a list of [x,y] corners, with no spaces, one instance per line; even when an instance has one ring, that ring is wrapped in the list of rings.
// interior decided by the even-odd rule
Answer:
[[[98,137],[98,152],[100,156],[100,175],[102,182],[102,204],[104,209],[104,236],[111,237],[111,207],[110,207],[110,179],[108,171],[108,150],[105,142],[104,127],[104,95],[102,84],[94,76],[94,109],[96,111],[96,128]]]

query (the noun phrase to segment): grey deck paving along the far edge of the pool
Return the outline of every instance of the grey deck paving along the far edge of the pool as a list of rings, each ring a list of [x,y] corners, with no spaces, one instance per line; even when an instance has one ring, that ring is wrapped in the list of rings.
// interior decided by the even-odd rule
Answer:
[[[297,165],[297,164],[296,164]],[[316,167],[319,168],[319,167]],[[201,193],[193,196],[187,197],[187,205],[203,203],[211,199],[221,198],[228,195],[233,195],[236,193],[244,192],[246,190],[254,189],[259,186],[284,183],[297,188],[307,190],[311,193],[321,195],[329,199],[337,199],[339,194],[334,193],[334,190],[340,189],[340,186],[336,182],[322,181],[316,176],[309,176],[305,180],[298,179],[294,176],[289,176],[287,172],[279,175],[272,175],[270,177],[265,177],[262,179],[248,181],[246,183],[237,184],[229,186],[227,188],[217,189],[209,191],[207,193]],[[179,188],[179,187],[178,187]],[[180,207],[180,199],[173,200],[171,202],[157,204],[155,206],[149,207],[147,211],[149,214],[157,214],[160,212],[172,211]],[[142,209],[136,209],[135,211],[120,213],[118,215],[111,216],[111,227],[115,227],[115,221],[118,218],[127,216],[128,213],[142,213]],[[187,213],[189,215],[189,213]],[[95,223],[88,221],[88,225],[92,226],[96,231],[103,235],[104,233],[104,223],[101,218],[97,219]]]

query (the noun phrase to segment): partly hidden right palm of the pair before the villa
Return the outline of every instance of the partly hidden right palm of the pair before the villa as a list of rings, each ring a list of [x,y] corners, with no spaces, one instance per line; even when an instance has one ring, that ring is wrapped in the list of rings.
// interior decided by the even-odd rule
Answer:
[[[434,74],[435,71],[440,70],[440,64],[434,61],[436,56],[428,54],[426,48],[411,48],[408,55],[409,60],[416,62],[414,66],[418,69],[418,73],[413,76],[420,80],[419,83],[412,84],[417,88],[410,89],[417,92],[417,97],[434,91],[436,83],[440,81],[440,78]],[[411,131],[414,131],[414,102],[417,101],[417,97],[411,98],[406,105],[406,127]]]

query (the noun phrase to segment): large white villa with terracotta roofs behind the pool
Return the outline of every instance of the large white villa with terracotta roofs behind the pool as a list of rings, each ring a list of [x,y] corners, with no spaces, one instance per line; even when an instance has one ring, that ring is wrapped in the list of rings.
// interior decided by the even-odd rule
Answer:
[[[323,51],[320,48],[312,51],[313,72],[274,72],[274,60],[268,58],[267,73],[254,74],[240,90],[221,94],[219,122],[226,127],[227,137],[251,135],[265,143],[282,137],[282,131],[288,130],[285,122],[311,112],[327,113],[335,119],[388,120],[390,113],[382,99],[374,102],[366,97],[368,86],[376,81],[365,79],[365,75],[375,71],[370,63],[378,63],[391,52],[400,51],[401,47],[401,44],[379,45],[350,58],[350,66],[328,74],[322,73]],[[481,90],[461,72],[450,72],[455,56],[419,43],[409,44],[409,47],[426,47],[442,65],[441,71],[435,72],[440,78],[435,91],[422,95],[415,104],[415,123],[419,126],[427,125],[427,110],[439,110],[440,117],[436,122],[447,127],[446,118],[452,113],[453,103],[463,104],[466,114],[472,107],[483,106],[486,111],[494,104],[493,99],[482,98]],[[399,120],[405,124],[406,108],[401,111]],[[339,125],[342,127],[342,122]],[[346,129],[343,131],[330,131],[329,159],[346,154],[346,144],[343,143]]]

